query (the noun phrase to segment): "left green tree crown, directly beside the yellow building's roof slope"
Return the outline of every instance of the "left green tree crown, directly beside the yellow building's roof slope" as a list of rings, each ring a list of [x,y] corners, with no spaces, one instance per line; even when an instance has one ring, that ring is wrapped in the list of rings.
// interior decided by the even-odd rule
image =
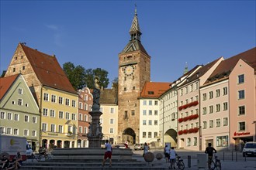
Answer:
[[[85,68],[83,66],[74,66],[73,63],[67,62],[63,64],[63,70],[74,90],[85,87]]]

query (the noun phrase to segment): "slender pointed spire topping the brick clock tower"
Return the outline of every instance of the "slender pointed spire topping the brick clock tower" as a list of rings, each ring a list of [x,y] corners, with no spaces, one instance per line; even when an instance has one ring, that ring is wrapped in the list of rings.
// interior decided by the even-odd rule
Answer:
[[[135,11],[134,11],[134,18],[132,22],[132,26],[130,27],[130,40],[139,40],[140,41],[140,35],[142,34],[140,32],[140,26],[138,22],[138,17],[137,17],[137,5],[135,4]]]

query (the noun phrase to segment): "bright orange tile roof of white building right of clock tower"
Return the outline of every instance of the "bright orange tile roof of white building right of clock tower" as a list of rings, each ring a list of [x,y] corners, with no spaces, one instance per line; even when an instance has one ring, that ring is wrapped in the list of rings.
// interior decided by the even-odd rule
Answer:
[[[158,98],[170,87],[171,83],[146,82],[139,98]]]

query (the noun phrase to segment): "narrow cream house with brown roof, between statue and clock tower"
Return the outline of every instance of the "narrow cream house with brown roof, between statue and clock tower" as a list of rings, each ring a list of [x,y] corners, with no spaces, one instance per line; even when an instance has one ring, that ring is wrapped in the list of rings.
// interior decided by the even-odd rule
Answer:
[[[103,113],[100,117],[103,133],[102,145],[105,144],[107,139],[115,145],[121,138],[118,135],[118,92],[116,87],[102,89],[99,102],[100,110]]]

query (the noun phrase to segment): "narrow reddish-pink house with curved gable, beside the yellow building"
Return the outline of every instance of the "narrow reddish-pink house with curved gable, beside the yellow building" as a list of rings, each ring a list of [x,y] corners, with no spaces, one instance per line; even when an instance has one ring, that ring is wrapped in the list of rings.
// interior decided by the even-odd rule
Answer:
[[[88,127],[92,121],[89,111],[92,110],[93,97],[90,89],[78,90],[78,148],[88,148]]]

